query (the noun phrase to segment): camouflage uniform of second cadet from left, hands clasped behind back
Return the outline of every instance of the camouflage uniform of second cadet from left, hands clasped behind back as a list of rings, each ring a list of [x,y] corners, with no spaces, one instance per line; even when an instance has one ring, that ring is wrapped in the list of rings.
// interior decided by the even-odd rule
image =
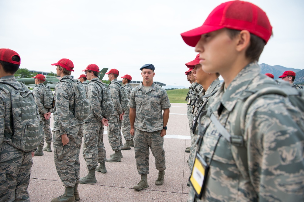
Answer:
[[[53,112],[53,108],[45,108],[44,107],[44,94],[43,94],[43,83],[39,83],[35,86],[35,88],[33,89],[33,95],[34,95],[34,99],[35,102],[38,106],[38,110],[39,110],[39,115],[40,115],[40,119],[43,122],[43,137],[40,143],[40,146],[44,145],[44,138],[45,138],[45,142],[46,143],[51,143],[53,141],[52,139],[52,132],[50,129],[50,119],[46,120],[43,116],[43,114],[45,113],[52,113]]]

